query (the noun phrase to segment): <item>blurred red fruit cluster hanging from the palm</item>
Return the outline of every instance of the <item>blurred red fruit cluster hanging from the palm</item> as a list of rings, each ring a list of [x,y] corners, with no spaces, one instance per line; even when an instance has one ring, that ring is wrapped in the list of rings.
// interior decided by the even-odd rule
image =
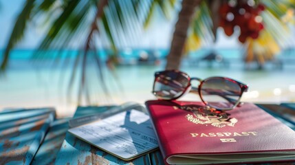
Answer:
[[[265,7],[262,4],[251,5],[247,1],[238,2],[237,4],[224,3],[221,5],[219,26],[228,36],[234,33],[235,26],[239,26],[241,30],[239,41],[245,43],[248,37],[257,39],[259,32],[263,30],[263,20],[259,14]]]

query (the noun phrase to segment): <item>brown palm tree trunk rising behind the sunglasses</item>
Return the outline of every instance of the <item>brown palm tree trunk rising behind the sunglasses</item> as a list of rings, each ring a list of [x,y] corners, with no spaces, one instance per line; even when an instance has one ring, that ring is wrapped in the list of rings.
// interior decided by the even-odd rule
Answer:
[[[182,1],[182,10],[178,14],[178,21],[175,25],[171,49],[167,56],[166,69],[179,69],[190,20],[200,1],[201,0]]]

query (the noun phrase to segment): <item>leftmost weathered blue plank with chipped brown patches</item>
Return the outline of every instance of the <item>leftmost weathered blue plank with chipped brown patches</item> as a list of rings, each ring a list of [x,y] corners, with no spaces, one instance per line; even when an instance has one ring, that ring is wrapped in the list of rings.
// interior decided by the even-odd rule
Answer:
[[[2,111],[0,164],[30,164],[54,117],[50,108]]]

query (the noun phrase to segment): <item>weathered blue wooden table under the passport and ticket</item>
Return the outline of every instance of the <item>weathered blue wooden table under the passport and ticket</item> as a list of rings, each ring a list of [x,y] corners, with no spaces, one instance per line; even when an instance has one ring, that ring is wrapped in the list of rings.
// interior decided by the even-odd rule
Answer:
[[[295,103],[257,105],[295,130]],[[74,118],[112,107],[78,107]],[[127,162],[118,159],[67,133],[69,118],[55,117],[50,108],[1,111],[0,164],[164,164],[159,150]]]

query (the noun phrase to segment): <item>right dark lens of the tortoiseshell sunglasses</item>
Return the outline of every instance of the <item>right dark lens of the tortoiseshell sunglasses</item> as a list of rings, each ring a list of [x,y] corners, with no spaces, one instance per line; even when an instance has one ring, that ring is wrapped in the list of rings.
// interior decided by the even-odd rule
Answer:
[[[232,109],[241,97],[241,87],[233,80],[209,78],[201,85],[201,97],[215,109]]]

